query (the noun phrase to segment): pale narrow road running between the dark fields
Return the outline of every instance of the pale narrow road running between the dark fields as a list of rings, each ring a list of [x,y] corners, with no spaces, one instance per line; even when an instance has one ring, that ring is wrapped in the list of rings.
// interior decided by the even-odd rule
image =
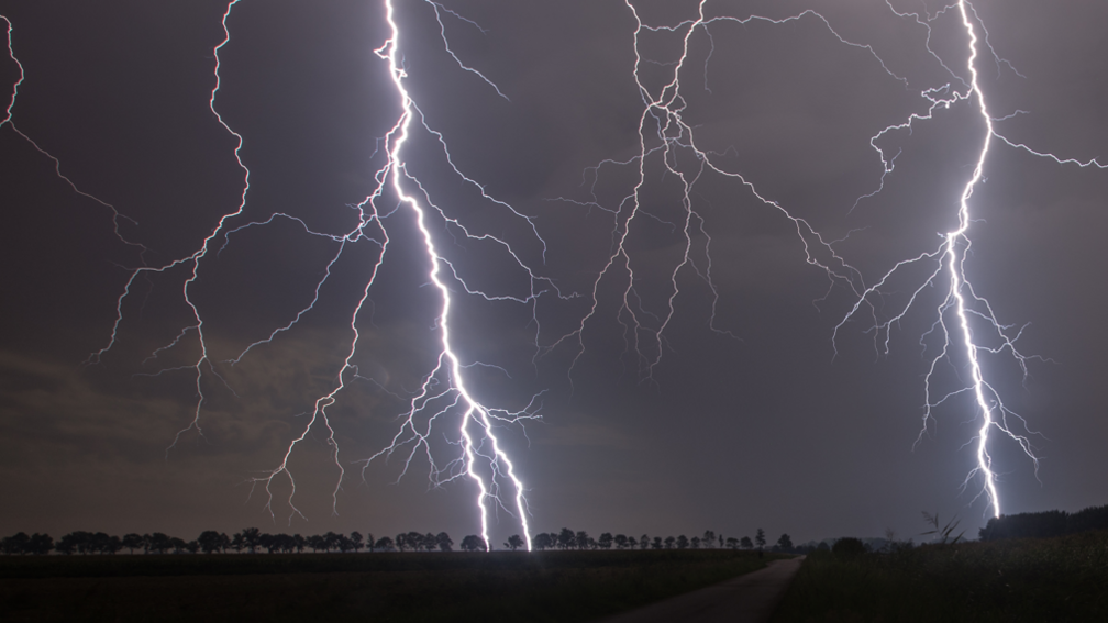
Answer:
[[[774,560],[760,571],[604,619],[601,623],[763,623],[773,614],[803,558]]]

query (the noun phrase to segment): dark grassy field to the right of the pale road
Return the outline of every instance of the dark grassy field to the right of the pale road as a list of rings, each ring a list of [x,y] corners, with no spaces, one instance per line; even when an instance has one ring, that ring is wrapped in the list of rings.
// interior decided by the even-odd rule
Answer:
[[[773,623],[1108,621],[1108,532],[809,555]]]

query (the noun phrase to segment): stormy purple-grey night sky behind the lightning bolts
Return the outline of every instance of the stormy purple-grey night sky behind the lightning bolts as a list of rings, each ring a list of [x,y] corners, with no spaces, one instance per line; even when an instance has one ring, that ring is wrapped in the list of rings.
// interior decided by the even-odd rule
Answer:
[[[681,57],[688,27],[679,24],[698,4],[634,6],[645,25],[674,27],[639,32],[639,80],[656,98]],[[934,262],[897,272],[837,334],[858,296],[806,254],[808,243],[815,261],[865,287],[957,227],[986,133],[976,99],[874,141],[893,164],[884,177],[871,145],[886,126],[926,114],[922,92],[948,84],[942,95],[965,94],[956,9],[892,2],[932,18],[932,54],[927,28],[876,0],[707,2],[707,17],[735,20],[688,39],[680,114],[711,163],[749,185],[711,171],[697,178],[687,243],[676,173],[689,177],[700,161],[676,131],[673,171],[652,152],[627,225],[644,101],[625,3],[438,7],[397,1],[403,84],[450,156],[417,120],[404,187],[419,193],[418,180],[440,208],[428,228],[456,274],[440,263],[465,386],[489,407],[541,416],[495,429],[525,483],[533,531],[741,537],[761,527],[799,543],[892,529],[919,539],[920,512],[937,511],[976,534],[991,509],[983,480],[966,481],[981,427],[970,394],[935,407],[921,435],[925,376],[942,348],[927,331],[947,277],[920,289]],[[1060,159],[1108,162],[1108,6],[973,8],[995,51],[981,41],[976,68],[996,132]],[[460,541],[480,518],[474,482],[449,464],[461,451],[456,410],[435,421],[429,448],[448,469],[440,480],[459,478],[429,487],[422,448],[400,478],[411,445],[362,471],[402,430],[441,340],[431,263],[391,188],[365,204],[381,216],[365,237],[336,242],[377,187],[383,139],[401,112],[389,64],[375,54],[390,32],[382,2],[244,0],[226,20],[215,110],[243,139],[249,188],[187,290],[211,362],[199,366],[203,437],[191,426],[202,347],[183,296],[187,258],[244,191],[237,139],[209,109],[226,9],[0,1],[25,72],[0,126],[0,533],[193,538],[258,525],[445,530]],[[807,9],[825,21],[746,21]],[[2,57],[7,105],[19,67]],[[653,120],[647,150],[661,145]],[[833,242],[856,273],[758,195]],[[994,139],[970,201],[966,276],[1029,357],[1025,378],[1010,351],[982,354],[1005,405],[1037,431],[1028,436],[1037,476],[1018,445],[993,432],[1004,512],[1108,503],[1106,196],[1108,171],[1097,164],[1059,164]],[[624,233],[625,254],[597,280]],[[686,244],[689,262],[677,269]],[[130,283],[112,343],[134,270],[177,259],[186,261]],[[338,463],[317,421],[288,461],[302,517],[285,474],[267,508],[250,480],[280,464],[316,400],[337,387],[370,279],[358,351],[327,410]],[[874,330],[917,289],[899,321]],[[314,298],[289,330],[229,361]],[[982,318],[973,321],[981,345],[996,348]],[[970,378],[964,353],[935,369],[933,402]],[[513,510],[513,493],[502,494]],[[491,515],[496,544],[520,532],[506,510]]]

